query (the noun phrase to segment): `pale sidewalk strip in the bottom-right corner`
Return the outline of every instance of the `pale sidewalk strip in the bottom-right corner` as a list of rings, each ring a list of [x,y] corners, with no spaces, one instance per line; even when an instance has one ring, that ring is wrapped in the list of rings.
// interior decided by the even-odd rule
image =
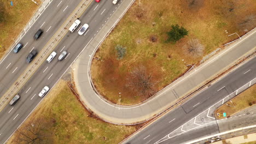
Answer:
[[[218,142],[213,142],[214,144],[240,144],[240,143],[245,143],[245,142],[252,142],[251,144],[256,143],[256,133],[253,134],[248,134],[248,135],[242,135],[242,136],[237,136],[237,137],[232,137],[230,139],[218,141]]]

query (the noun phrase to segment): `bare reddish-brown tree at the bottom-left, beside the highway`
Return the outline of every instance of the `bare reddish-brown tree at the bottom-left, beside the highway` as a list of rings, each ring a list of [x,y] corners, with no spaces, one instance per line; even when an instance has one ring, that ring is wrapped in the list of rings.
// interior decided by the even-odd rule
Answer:
[[[15,137],[14,143],[19,144],[36,144],[36,143],[51,143],[49,134],[46,134],[45,123],[43,119],[36,119],[24,123],[17,130],[18,136]]]

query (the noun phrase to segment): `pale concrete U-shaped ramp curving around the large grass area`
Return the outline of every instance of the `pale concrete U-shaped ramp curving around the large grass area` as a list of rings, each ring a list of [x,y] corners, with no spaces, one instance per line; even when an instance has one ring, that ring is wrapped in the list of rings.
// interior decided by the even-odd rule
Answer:
[[[147,121],[168,109],[178,99],[184,97],[184,95],[193,91],[207,80],[230,67],[237,59],[245,56],[248,51],[255,50],[256,29],[249,32],[242,39],[237,40],[236,43],[226,47],[218,55],[213,56],[199,67],[171,83],[142,104],[132,106],[112,104],[104,99],[94,87],[90,76],[91,61],[98,46],[110,33],[109,29],[114,28],[132,2],[132,0],[127,0],[120,3],[119,9],[109,17],[106,25],[95,36],[97,40],[91,41],[87,51],[80,55],[74,65],[74,81],[80,99],[84,101],[84,105],[88,110],[104,121],[115,124],[135,124]]]

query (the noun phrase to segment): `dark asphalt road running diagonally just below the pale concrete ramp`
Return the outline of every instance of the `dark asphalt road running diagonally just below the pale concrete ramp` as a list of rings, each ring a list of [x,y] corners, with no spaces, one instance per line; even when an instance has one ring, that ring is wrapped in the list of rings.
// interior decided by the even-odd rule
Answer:
[[[176,109],[166,113],[157,121],[150,124],[147,128],[143,129],[140,133],[132,136],[125,143],[155,143],[159,141],[172,131],[181,127],[190,119],[199,115],[199,113],[202,111],[207,110],[208,107],[226,97],[226,95],[229,95],[230,93],[236,91],[236,89],[245,85],[248,81],[254,79],[256,77],[255,63],[256,57],[254,56],[254,58],[252,58],[250,61],[236,68],[234,71],[228,75],[225,75],[217,82],[212,83],[210,87],[203,89],[203,91],[196,94],[193,98],[176,107]],[[248,72],[246,73],[246,71]],[[225,87],[222,88],[223,86]],[[213,113],[209,113],[210,116],[212,116],[212,114]],[[183,140],[187,141],[195,137],[218,133],[217,128],[218,127],[215,122],[211,127],[204,127],[196,132],[182,134],[181,136],[178,136],[179,140],[175,138],[161,143],[181,143]],[[183,130],[187,129],[183,128]],[[181,133],[184,131],[179,130],[178,132]]]

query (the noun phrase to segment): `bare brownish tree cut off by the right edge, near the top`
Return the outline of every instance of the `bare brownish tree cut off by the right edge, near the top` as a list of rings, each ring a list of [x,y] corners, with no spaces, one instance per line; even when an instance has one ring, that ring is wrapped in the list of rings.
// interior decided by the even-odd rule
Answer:
[[[245,19],[243,19],[243,22],[238,23],[238,25],[243,28],[243,29],[252,29],[256,26],[256,15],[255,14],[251,14],[245,17]]]

